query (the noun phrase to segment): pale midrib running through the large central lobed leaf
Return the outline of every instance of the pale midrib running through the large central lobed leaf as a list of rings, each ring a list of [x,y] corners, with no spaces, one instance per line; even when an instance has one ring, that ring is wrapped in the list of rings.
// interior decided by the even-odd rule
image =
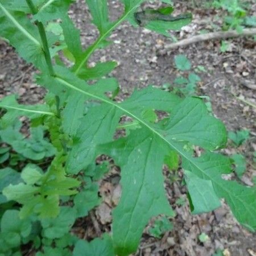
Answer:
[[[83,94],[86,94],[87,96],[89,97],[92,97],[92,98],[96,98],[97,100],[100,100],[102,102],[105,102],[106,104],[110,104],[112,106],[115,106],[115,108],[119,109],[119,110],[122,110],[122,112],[126,113],[127,115],[130,115],[130,117],[133,117],[134,119],[137,119],[137,121],[139,121],[144,127],[146,127],[147,129],[149,129],[153,134],[157,135],[160,139],[162,139],[164,142],[166,142],[171,148],[173,148],[174,150],[176,150],[181,156],[183,156],[183,158],[187,159],[189,161],[189,163],[193,164],[193,166],[195,166],[198,170],[200,170],[200,172],[202,174],[204,174],[205,176],[208,177],[209,180],[212,180],[214,183],[217,183],[217,181],[215,179],[212,179],[211,176],[209,176],[206,172],[204,172],[204,170],[202,170],[200,168],[200,166],[197,166],[197,164],[195,162],[193,162],[191,160],[190,157],[188,157],[186,154],[184,154],[182,151],[179,150],[179,148],[177,148],[176,146],[174,146],[171,142],[167,141],[166,138],[163,137],[162,134],[158,133],[158,131],[154,130],[150,125],[148,125],[146,122],[144,122],[141,118],[137,117],[137,115],[134,115],[133,113],[129,112],[129,110],[126,110],[124,108],[122,108],[122,106],[118,105],[118,104],[115,104],[113,101],[110,101],[110,100],[107,100],[105,98],[102,98],[100,96],[97,96],[97,95],[94,95],[92,93],[89,93],[89,92],[85,92],[84,90],[80,89],[80,88],[77,88],[76,86],[70,84],[69,82],[61,79],[60,77],[55,77],[55,79],[57,81],[59,81],[61,84],[65,85],[65,86],[68,86],[68,88],[71,88],[71,89],[74,89],[74,90],[77,90],[78,92],[81,92]],[[225,188],[221,187],[228,195],[230,194],[229,191],[227,191]],[[239,197],[236,197],[237,200],[241,201],[241,203],[243,203],[243,201],[239,198]]]

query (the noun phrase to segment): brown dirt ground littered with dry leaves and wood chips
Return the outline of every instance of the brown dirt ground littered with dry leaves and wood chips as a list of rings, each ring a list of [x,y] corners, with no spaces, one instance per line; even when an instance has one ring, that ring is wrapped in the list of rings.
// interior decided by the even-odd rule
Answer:
[[[112,17],[117,18],[122,11],[121,4],[111,1],[110,7]],[[189,10],[186,2],[176,1],[175,7],[176,14]],[[251,10],[254,15],[255,8],[254,5],[254,10]],[[220,25],[215,18],[218,14],[216,11],[191,11],[194,15],[192,24],[181,32],[172,33],[177,39],[199,34],[203,29],[213,31],[212,24]],[[97,30],[90,24],[90,14],[82,0],[72,6],[70,15],[82,31],[83,46],[89,46],[96,39]],[[213,113],[225,123],[228,130],[246,128],[251,131],[251,139],[245,145],[234,148],[229,144],[223,151],[224,154],[239,152],[246,156],[248,164],[243,183],[251,185],[251,178],[256,172],[252,164],[252,154],[256,150],[256,112],[238,98],[256,104],[256,91],[247,88],[243,82],[247,80],[255,84],[255,40],[230,40],[232,47],[225,53],[220,52],[218,40],[168,50],[165,46],[170,44],[170,39],[149,32],[143,27],[133,28],[128,23],[119,26],[110,38],[114,41],[112,46],[94,53],[91,61],[118,62],[112,75],[118,78],[122,97],[126,97],[134,88],[171,83],[177,75],[174,56],[179,53],[185,54],[192,61],[193,68],[198,65],[205,67],[207,72],[200,73],[202,81],[197,88],[198,94],[210,97]],[[24,103],[35,104],[42,101],[44,89],[34,84],[34,73],[35,69],[21,60],[13,48],[4,42],[0,43],[0,97],[16,93]],[[256,255],[256,236],[234,220],[225,203],[208,214],[192,216],[187,201],[181,206],[175,203],[180,197],[185,199],[186,190],[180,185],[181,179],[171,183],[169,176],[170,174],[166,178],[166,191],[177,212],[173,221],[174,229],[164,234],[161,239],[156,239],[148,234],[146,228],[136,255],[210,256],[217,249],[225,249],[225,256]],[[77,221],[73,232],[89,239],[96,236],[92,215],[96,217],[94,222],[98,222],[102,233],[110,230],[111,208],[108,207],[108,200],[113,200],[115,193],[118,194],[119,191],[118,184],[112,181],[110,178],[101,183],[101,194],[105,196],[103,206],[98,207],[90,217]],[[198,238],[203,232],[209,236],[209,240],[204,243]]]

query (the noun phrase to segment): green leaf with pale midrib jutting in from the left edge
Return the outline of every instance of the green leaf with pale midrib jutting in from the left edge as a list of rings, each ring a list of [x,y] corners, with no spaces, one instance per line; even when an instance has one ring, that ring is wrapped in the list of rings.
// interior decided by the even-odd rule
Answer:
[[[0,101],[0,108],[6,109],[7,113],[1,118],[2,128],[7,127],[22,115],[32,119],[47,115],[55,115],[49,111],[47,105],[21,105],[15,99],[15,95],[6,96]]]

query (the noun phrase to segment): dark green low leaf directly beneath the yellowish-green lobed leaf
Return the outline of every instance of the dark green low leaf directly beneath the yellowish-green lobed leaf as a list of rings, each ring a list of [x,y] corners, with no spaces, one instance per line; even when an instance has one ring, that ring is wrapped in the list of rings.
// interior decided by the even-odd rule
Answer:
[[[44,218],[42,235],[49,239],[63,237],[69,232],[76,220],[76,209],[60,207],[60,213],[56,218]]]

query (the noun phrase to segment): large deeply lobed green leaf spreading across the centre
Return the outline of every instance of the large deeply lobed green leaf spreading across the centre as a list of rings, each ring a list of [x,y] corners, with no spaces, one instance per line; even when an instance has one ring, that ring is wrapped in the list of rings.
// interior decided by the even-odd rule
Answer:
[[[52,84],[67,88],[69,93],[79,92],[88,99],[102,102],[100,105],[89,108],[82,120],[66,167],[68,172],[78,172],[85,168],[97,154],[104,152],[113,156],[121,166],[122,196],[113,213],[114,246],[120,255],[127,255],[136,249],[144,225],[152,216],[160,213],[171,214],[171,208],[167,207],[168,201],[164,197],[161,171],[164,155],[167,155],[170,149],[182,156],[185,170],[192,171],[198,178],[212,183],[213,189],[209,192],[214,199],[216,196],[213,192],[219,198],[224,197],[239,221],[251,228],[255,226],[252,217],[254,209],[251,205],[251,196],[254,195],[255,190],[221,180],[221,174],[229,171],[230,162],[220,164],[221,156],[214,153],[207,153],[210,159],[204,156],[194,158],[187,150],[189,144],[215,150],[224,146],[227,139],[224,125],[208,114],[206,106],[199,98],[190,97],[182,100],[162,90],[146,88],[134,92],[129,100],[118,104],[104,95],[104,88],[100,89],[99,93],[97,88],[86,85],[71,73],[68,74],[68,71],[65,72],[65,77],[52,77],[51,80]],[[48,88],[51,90],[50,85]],[[151,123],[143,118],[144,111],[148,109],[165,110],[170,113],[170,118],[158,124]],[[141,129],[131,132],[126,138],[112,142],[114,127],[117,126],[118,117],[123,114],[136,119]],[[95,121],[92,122],[92,120]],[[106,127],[110,133],[104,134]],[[81,137],[84,139],[80,139]],[[96,147],[106,141],[109,141],[106,146]],[[80,160],[76,162],[75,159]],[[211,175],[205,175],[205,168],[210,166],[212,166]],[[221,190],[220,185],[216,185],[217,174],[220,177],[217,182],[220,184],[225,182],[225,190],[224,188]],[[152,185],[154,182],[155,185]],[[191,185],[189,186],[191,190]],[[235,189],[237,192],[234,191]],[[251,196],[248,197],[248,195]],[[129,200],[126,200],[127,198]],[[214,207],[208,205],[208,209],[214,209],[219,205],[217,200],[215,202]],[[243,212],[240,211],[242,205]],[[197,205],[195,207],[198,210]],[[201,209],[204,210],[205,206]],[[143,214],[140,215],[139,212]]]

